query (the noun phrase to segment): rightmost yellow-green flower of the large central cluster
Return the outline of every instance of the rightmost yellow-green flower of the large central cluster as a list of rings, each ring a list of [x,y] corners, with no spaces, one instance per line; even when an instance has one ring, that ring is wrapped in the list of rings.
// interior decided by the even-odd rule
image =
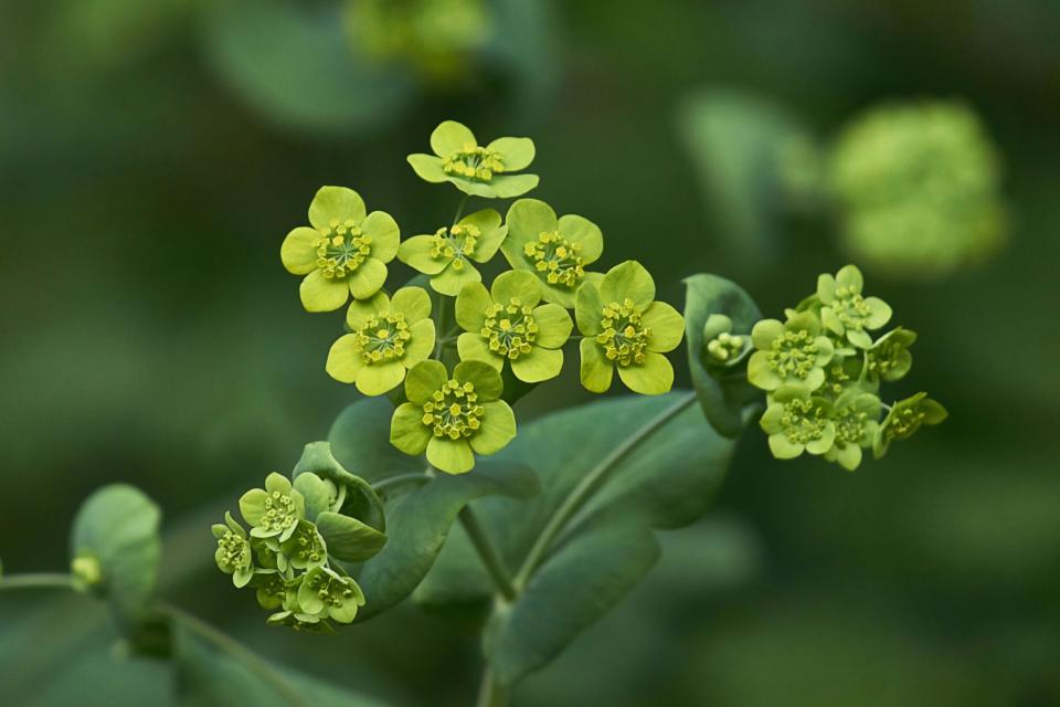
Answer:
[[[655,302],[655,281],[635,261],[612,267],[600,286],[585,283],[574,309],[582,339],[582,384],[596,393],[618,378],[629,390],[658,395],[674,386],[674,367],[662,354],[685,335],[685,319],[665,302]]]

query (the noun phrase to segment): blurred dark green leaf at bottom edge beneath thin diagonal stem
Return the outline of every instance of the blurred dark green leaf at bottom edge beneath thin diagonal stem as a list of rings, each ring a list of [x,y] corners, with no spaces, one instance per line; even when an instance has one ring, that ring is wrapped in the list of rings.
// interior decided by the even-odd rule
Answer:
[[[221,707],[223,705],[261,705],[263,707],[298,707],[300,705],[349,705],[382,707],[384,703],[351,693],[337,685],[284,668],[251,656],[237,659],[232,653],[218,650],[200,635],[180,625],[173,626],[176,642],[176,687],[180,704],[186,707]],[[258,671],[268,671],[269,680]],[[271,682],[282,682],[292,697],[285,696]],[[299,699],[295,701],[293,696]]]

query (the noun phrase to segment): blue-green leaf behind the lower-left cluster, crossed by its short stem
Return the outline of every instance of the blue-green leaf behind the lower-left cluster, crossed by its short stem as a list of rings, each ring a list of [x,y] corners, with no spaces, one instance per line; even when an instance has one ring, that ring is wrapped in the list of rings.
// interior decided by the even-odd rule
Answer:
[[[328,439],[336,456],[373,481],[425,473],[425,462],[390,444],[390,414],[384,400],[369,399],[347,408]],[[369,619],[405,599],[421,583],[445,545],[457,514],[470,500],[489,495],[527,498],[538,493],[538,479],[521,462],[479,458],[468,474],[442,474],[418,485],[383,494],[389,540],[364,563],[357,578],[367,603],[357,621]]]

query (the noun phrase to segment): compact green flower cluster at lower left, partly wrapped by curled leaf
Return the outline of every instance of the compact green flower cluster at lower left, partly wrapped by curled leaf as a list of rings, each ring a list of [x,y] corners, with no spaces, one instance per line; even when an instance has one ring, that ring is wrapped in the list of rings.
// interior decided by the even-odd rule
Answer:
[[[342,561],[368,559],[385,536],[346,515],[356,494],[374,498],[371,487],[349,476],[356,481],[304,473],[293,484],[286,476],[269,474],[265,488],[240,498],[250,532],[231,513],[224,524],[213,526],[218,568],[232,576],[235,587],[255,590],[258,604],[275,612],[269,624],[328,631],[330,621],[353,621],[364,604],[361,588]]]

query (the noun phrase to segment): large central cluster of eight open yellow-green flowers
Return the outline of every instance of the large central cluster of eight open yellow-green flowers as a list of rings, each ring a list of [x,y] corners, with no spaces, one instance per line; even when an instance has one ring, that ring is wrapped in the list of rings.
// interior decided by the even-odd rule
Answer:
[[[292,231],[280,251],[287,270],[305,275],[307,310],[336,309],[353,296],[349,333],[332,345],[326,369],[362,394],[392,394],[391,443],[443,472],[470,471],[476,454],[494,454],[516,435],[505,376],[526,386],[558,377],[575,320],[587,390],[606,391],[617,370],[635,392],[669,391],[674,368],[664,354],[680,344],[683,319],[655,300],[639,263],[591,270],[604,251],[595,223],[526,198],[505,217],[495,209],[463,215],[469,197],[519,197],[538,184],[536,175],[515,173],[533,161],[533,141],[480,145],[453,120],[430,141],[434,155],[409,162],[422,179],[465,194],[451,224],[401,241],[394,220],[367,213],[357,192],[324,187],[309,207],[312,228]],[[510,270],[487,286],[479,268],[498,251]],[[421,275],[390,294],[386,264],[395,256]]]

